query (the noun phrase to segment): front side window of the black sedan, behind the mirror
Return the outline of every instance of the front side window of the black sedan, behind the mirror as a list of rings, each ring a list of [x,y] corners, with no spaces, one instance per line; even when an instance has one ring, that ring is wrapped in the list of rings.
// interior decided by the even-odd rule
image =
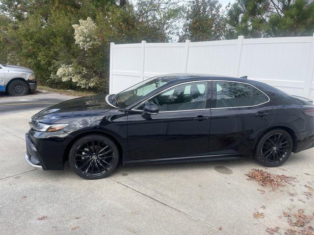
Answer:
[[[205,109],[207,86],[207,82],[178,85],[150,98],[137,109],[143,110],[148,103],[157,104],[159,112]]]

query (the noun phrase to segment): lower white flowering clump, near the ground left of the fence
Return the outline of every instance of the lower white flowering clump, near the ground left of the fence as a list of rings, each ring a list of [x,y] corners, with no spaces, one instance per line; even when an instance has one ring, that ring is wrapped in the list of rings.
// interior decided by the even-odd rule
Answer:
[[[91,76],[84,67],[72,65],[61,65],[56,72],[58,78],[63,82],[72,80],[81,88],[95,87],[99,84],[99,78]]]

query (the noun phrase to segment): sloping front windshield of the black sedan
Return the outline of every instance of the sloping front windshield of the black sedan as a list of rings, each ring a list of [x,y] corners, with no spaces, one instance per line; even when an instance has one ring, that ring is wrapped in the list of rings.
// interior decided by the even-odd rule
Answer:
[[[114,99],[118,107],[126,108],[172,80],[165,76],[152,77],[116,94]]]

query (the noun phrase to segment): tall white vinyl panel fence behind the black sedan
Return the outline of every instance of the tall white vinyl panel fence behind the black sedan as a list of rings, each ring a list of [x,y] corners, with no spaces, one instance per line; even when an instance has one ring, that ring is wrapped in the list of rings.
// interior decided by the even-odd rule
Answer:
[[[314,99],[313,37],[110,45],[111,94],[166,73],[248,76]]]

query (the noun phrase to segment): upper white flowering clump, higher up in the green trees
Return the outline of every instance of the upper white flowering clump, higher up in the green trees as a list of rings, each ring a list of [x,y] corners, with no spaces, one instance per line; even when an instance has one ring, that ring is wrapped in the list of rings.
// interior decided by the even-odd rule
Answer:
[[[97,36],[97,26],[89,17],[79,20],[79,24],[73,24],[75,44],[81,49],[88,50],[100,44]]]

